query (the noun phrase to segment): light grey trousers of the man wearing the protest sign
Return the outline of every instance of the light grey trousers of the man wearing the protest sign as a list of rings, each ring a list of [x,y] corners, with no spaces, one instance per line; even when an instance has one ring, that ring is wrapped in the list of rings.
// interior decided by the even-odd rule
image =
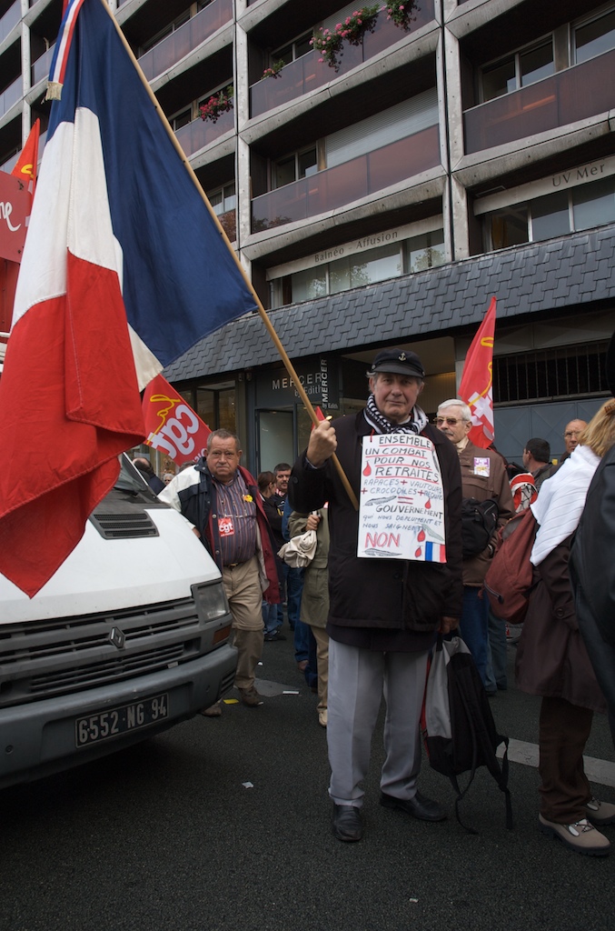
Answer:
[[[384,695],[381,790],[412,799],[421,769],[421,704],[427,652],[375,653],[329,640],[329,795],[342,805],[363,804],[371,737]]]

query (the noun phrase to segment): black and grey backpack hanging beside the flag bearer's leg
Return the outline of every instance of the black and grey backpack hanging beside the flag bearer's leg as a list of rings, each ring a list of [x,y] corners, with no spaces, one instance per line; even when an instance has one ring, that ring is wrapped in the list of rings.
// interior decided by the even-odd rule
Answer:
[[[436,773],[448,776],[457,793],[455,814],[461,827],[459,804],[472,785],[479,766],[487,766],[504,793],[506,828],[513,828],[513,808],[508,789],[508,737],[498,734],[485,688],[472,654],[461,637],[443,641],[438,637],[427,674],[421,714],[423,742],[429,762]],[[504,744],[500,762],[496,749]],[[465,789],[458,776],[469,773]]]

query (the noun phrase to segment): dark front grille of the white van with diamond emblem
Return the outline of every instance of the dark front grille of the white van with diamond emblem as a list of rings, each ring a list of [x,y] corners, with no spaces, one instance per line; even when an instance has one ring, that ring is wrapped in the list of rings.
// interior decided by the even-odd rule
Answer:
[[[114,629],[125,638],[120,649]],[[212,636],[192,598],[0,627],[0,708],[186,662],[209,652]]]

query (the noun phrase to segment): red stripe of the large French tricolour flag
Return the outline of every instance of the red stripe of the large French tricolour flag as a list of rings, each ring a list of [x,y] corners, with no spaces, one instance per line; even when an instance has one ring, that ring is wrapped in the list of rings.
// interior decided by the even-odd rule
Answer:
[[[3,452],[28,469],[25,484],[0,475],[3,573],[31,597],[113,488],[118,454],[144,433],[117,276],[69,255],[68,285],[70,299],[36,304],[17,321],[2,376],[3,397],[20,398],[3,411]]]

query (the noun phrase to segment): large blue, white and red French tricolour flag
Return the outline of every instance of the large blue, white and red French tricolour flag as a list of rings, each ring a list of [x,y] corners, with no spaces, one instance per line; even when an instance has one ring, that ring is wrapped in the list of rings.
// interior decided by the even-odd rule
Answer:
[[[102,0],[56,55],[0,381],[0,570],[31,597],[144,439],[140,390],[256,306]]]

